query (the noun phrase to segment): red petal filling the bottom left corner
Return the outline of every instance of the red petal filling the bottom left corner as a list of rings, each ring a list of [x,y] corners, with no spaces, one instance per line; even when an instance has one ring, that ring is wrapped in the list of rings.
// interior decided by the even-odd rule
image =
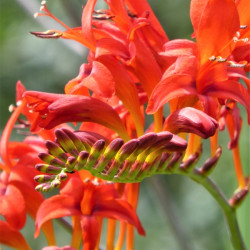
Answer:
[[[30,246],[18,230],[13,229],[8,223],[0,220],[0,242],[7,246],[30,250]]]

